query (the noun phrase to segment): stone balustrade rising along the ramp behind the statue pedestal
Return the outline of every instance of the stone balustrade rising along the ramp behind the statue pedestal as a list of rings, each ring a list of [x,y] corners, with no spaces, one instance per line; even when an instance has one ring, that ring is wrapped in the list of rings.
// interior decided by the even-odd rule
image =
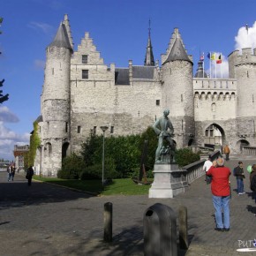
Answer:
[[[217,159],[220,154],[221,152],[219,150],[215,151],[213,154],[210,154],[211,161]],[[197,178],[205,175],[205,172],[203,170],[203,165],[205,161],[206,160],[199,160],[183,167],[183,169],[186,169],[186,181],[188,184],[192,183]]]

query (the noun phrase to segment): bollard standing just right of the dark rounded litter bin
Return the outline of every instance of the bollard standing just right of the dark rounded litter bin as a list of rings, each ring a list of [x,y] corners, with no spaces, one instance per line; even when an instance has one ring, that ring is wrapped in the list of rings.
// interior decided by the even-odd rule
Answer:
[[[178,226],[179,248],[186,250],[188,248],[187,207],[181,206],[178,209]]]

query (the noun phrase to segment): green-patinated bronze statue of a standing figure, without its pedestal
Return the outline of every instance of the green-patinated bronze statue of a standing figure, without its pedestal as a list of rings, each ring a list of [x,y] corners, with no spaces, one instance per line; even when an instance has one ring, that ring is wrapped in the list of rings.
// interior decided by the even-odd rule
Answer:
[[[163,162],[161,159],[162,154],[166,154],[163,149],[163,140],[166,139],[169,142],[168,154],[170,157],[170,162],[175,162],[175,144],[171,137],[174,136],[173,126],[169,120],[169,109],[163,110],[163,116],[158,118],[153,124],[154,132],[158,135],[158,147],[155,151],[155,162]],[[167,162],[168,163],[168,162]]]

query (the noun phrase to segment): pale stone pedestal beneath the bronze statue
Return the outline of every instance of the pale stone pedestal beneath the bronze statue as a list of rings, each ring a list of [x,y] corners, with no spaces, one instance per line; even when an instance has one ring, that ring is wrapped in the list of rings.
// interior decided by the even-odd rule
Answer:
[[[155,163],[154,183],[149,189],[149,198],[169,199],[184,192],[187,187],[186,170],[177,164]]]

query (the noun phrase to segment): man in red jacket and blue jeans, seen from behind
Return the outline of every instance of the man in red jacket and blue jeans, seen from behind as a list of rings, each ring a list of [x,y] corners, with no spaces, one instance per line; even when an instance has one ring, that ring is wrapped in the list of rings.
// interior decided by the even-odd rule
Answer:
[[[207,170],[207,176],[212,177],[211,191],[217,231],[230,230],[230,174],[230,169],[224,166],[222,157],[214,161],[213,166]]]

